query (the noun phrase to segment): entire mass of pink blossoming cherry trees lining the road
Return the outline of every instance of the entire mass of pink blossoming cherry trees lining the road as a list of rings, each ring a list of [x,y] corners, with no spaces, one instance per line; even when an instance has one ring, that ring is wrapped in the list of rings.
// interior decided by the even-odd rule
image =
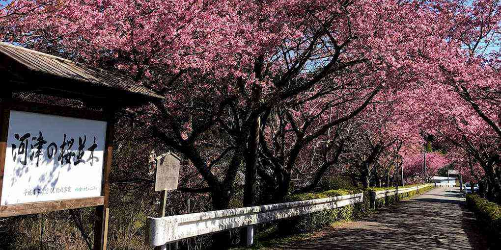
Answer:
[[[1,6],[0,39],[125,73],[166,96],[120,113],[118,143],[184,157],[180,190],[209,194],[207,209],[234,206],[242,175],[257,179],[245,205],[336,176],[391,185],[400,165],[418,176],[423,132],[446,152],[435,167],[454,162],[501,203],[497,0]],[[146,156],[114,157],[128,173],[113,173],[115,184],[151,184],[131,169],[147,167]]]

